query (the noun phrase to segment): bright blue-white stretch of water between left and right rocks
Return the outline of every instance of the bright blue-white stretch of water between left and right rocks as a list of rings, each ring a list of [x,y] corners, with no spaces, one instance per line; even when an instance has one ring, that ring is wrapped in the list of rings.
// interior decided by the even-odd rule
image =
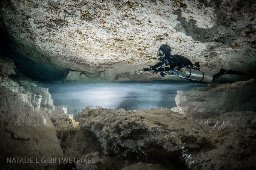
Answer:
[[[178,90],[195,86],[187,82],[153,81],[125,83],[45,83],[54,106],[66,106],[68,114],[77,114],[84,108],[148,109],[173,108]]]

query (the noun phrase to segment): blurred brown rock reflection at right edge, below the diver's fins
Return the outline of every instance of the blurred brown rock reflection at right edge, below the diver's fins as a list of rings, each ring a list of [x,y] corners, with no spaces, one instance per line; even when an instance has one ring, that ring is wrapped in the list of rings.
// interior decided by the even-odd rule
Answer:
[[[256,84],[240,81],[209,84],[188,91],[178,91],[173,111],[193,119],[216,117],[225,112],[256,111]]]

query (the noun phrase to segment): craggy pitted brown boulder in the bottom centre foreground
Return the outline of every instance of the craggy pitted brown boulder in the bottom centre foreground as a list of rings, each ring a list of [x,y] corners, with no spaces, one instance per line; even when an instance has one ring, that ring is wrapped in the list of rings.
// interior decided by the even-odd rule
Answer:
[[[141,155],[138,159],[147,157],[144,150],[152,147],[181,151],[186,145],[181,137],[193,140],[204,135],[199,131],[199,125],[164,108],[138,111],[83,109],[74,119],[81,128],[92,131],[99,138],[104,154],[127,157],[134,152]],[[198,133],[192,137],[190,131]]]

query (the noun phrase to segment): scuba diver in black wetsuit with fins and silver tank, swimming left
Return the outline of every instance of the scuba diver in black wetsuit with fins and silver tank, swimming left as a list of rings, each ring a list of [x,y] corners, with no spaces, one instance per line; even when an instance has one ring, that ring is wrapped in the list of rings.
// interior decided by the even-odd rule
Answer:
[[[214,75],[200,71],[199,62],[192,62],[182,55],[171,55],[171,47],[167,44],[160,46],[157,51],[158,63],[149,65],[147,68],[138,70],[137,73],[149,71],[151,75],[160,72],[161,77],[164,75],[179,76],[191,83],[210,83],[224,74],[246,75],[240,71],[224,70],[221,68],[220,72]]]

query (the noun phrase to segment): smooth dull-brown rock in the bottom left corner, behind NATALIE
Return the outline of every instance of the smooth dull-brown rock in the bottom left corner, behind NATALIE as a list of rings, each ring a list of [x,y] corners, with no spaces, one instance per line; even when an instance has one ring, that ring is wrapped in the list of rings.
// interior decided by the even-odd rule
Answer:
[[[45,158],[63,157],[60,141],[53,128],[37,128],[23,125],[3,127],[3,125],[0,125],[0,129],[1,168],[41,169],[47,165],[42,161]],[[7,163],[7,158],[11,159],[12,162]],[[17,162],[13,162],[13,158],[22,158],[25,162],[28,162],[29,158],[33,158],[33,163],[19,163],[17,159]]]

